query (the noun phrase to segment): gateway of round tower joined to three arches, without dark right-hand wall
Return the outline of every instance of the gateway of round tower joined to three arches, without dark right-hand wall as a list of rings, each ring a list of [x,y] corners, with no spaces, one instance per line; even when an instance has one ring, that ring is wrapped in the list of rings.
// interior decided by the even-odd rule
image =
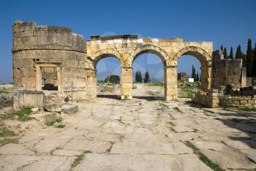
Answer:
[[[97,97],[97,62],[113,56],[121,63],[121,99],[132,99],[132,63],[142,53],[154,53],[164,64],[165,100],[177,98],[177,61],[183,55],[199,59],[203,91],[212,86],[212,42],[137,35],[91,36],[84,41],[83,36],[72,33],[71,28],[21,21],[13,26],[12,77],[15,88],[42,90],[44,79],[58,91],[66,94],[72,91],[75,99],[94,99]],[[50,70],[56,72],[54,77],[48,73]],[[45,71],[48,72],[45,74]]]

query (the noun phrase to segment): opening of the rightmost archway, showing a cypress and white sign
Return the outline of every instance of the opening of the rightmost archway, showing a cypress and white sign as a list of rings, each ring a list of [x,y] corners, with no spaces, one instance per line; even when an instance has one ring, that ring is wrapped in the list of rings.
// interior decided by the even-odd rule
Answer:
[[[177,62],[178,98],[189,98],[201,89],[201,61],[192,55],[183,55]]]

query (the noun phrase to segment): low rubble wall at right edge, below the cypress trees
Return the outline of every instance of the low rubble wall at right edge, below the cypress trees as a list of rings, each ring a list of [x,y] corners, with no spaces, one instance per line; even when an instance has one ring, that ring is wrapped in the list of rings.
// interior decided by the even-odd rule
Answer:
[[[256,95],[253,96],[230,96],[224,95],[219,99],[221,107],[225,108],[252,108],[256,107]]]

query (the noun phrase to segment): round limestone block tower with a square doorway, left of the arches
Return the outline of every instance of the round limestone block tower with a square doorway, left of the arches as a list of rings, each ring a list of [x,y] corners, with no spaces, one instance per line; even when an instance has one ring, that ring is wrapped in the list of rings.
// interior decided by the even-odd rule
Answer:
[[[42,67],[56,67],[58,90],[86,99],[86,45],[71,28],[17,21],[12,47],[15,88],[42,89]]]

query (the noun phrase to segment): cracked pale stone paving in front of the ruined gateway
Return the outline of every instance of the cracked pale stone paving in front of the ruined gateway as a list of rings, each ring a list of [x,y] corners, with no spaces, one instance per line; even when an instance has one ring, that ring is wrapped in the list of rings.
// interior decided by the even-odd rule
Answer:
[[[202,154],[223,170],[256,169],[255,114],[185,100],[102,97],[61,115],[64,129],[5,121],[23,136],[0,147],[0,170],[211,170]]]

